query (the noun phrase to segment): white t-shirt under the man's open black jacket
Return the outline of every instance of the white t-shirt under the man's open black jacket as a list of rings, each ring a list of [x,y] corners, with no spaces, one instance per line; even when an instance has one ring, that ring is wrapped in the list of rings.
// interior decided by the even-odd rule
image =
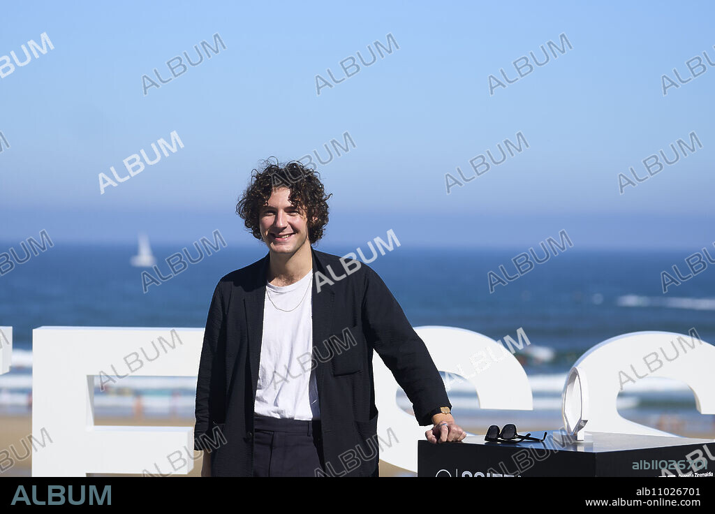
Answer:
[[[294,420],[320,419],[315,370],[310,369],[312,276],[310,270],[305,277],[285,287],[266,282],[254,407],[257,414]]]

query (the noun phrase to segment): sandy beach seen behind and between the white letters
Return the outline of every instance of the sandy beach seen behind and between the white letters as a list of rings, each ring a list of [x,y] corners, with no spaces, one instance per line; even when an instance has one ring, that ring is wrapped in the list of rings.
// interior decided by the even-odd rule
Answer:
[[[532,413],[533,414],[533,413]],[[518,416],[513,416],[511,418],[512,422],[515,422],[517,427],[526,427],[525,430],[519,428],[519,433],[524,433],[530,431],[536,433],[543,430],[555,430],[559,425],[555,425],[556,422],[560,421],[558,419],[551,419],[551,417],[540,417],[538,420],[529,419],[526,421],[523,414]],[[520,422],[521,421],[521,422]],[[704,438],[712,439],[713,433],[697,433],[689,432],[686,427],[679,425],[677,419],[674,418],[664,418],[661,420],[661,430],[677,430],[677,432],[684,437],[689,438]],[[194,426],[194,420],[185,417],[97,417],[97,425],[139,425],[139,426]],[[467,430],[469,433],[473,434],[484,434],[486,432],[488,425],[482,425],[478,422],[473,422],[473,420],[460,421],[461,426]],[[502,420],[498,417],[493,418],[495,424],[501,423]],[[509,422],[509,421],[505,421]],[[489,423],[491,424],[491,423]],[[426,430],[426,427],[425,427]],[[23,455],[26,453],[24,450],[21,440],[26,439],[31,433],[31,417],[30,415],[3,415],[0,417],[0,452],[2,450],[7,450],[10,445],[16,449],[16,453]],[[5,455],[1,453],[0,455]],[[201,476],[201,461],[202,452],[194,451],[194,469],[188,475],[169,475],[172,477],[199,477]],[[13,458],[13,460],[16,460]],[[4,466],[7,463],[0,463]],[[394,476],[413,476],[413,473],[409,473],[401,468],[397,468],[385,462],[380,463],[380,476],[394,477]],[[0,474],[0,477],[9,476],[31,476],[31,456],[25,460],[18,460],[14,465],[6,469]],[[92,476],[114,476],[114,475],[92,475]],[[142,476],[142,475],[122,475],[122,476]]]

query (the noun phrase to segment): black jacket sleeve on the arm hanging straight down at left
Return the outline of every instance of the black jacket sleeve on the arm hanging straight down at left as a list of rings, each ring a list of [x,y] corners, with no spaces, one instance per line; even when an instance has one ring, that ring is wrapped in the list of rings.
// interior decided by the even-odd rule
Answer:
[[[199,374],[196,383],[196,425],[194,426],[194,450],[215,447],[218,435],[215,424],[225,419],[224,396],[222,386],[224,362],[221,361],[222,348],[225,347],[225,302],[219,282],[209,306],[209,314],[204,330],[204,342],[199,360]]]

